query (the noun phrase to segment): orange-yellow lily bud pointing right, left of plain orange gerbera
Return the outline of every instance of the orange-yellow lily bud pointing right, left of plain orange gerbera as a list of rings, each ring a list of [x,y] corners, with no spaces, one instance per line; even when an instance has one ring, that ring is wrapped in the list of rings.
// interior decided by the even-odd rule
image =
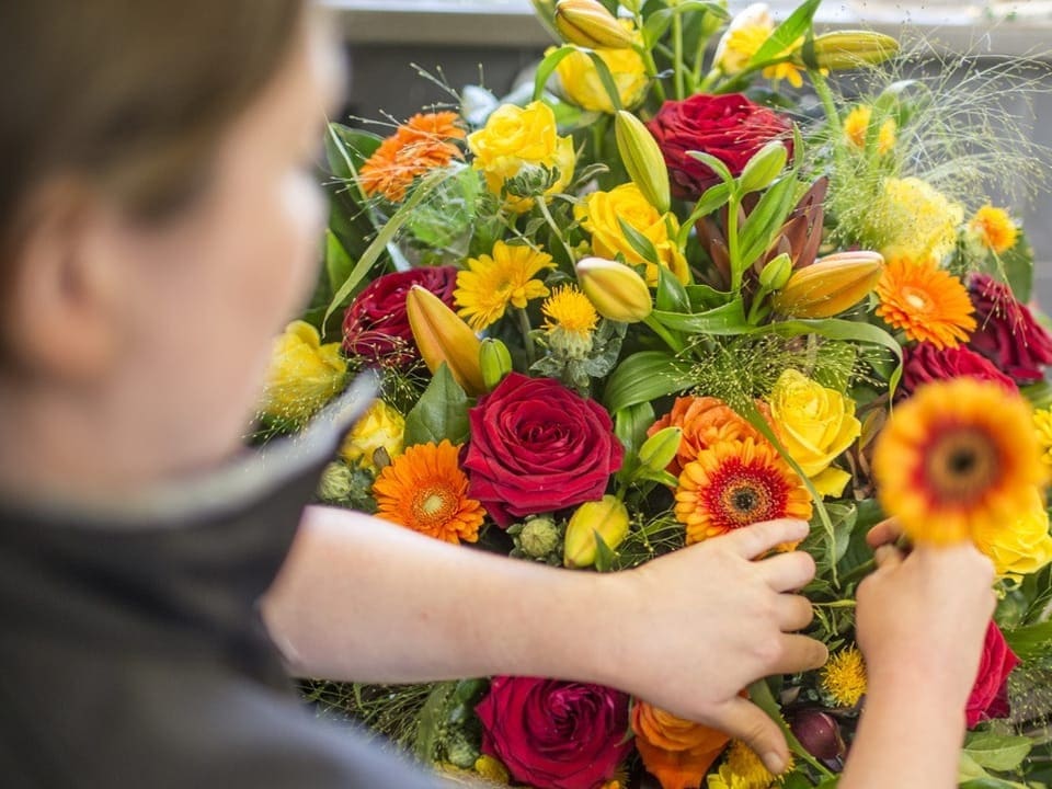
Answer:
[[[883,271],[877,252],[837,252],[797,271],[773,304],[796,318],[831,318],[866,298]]]

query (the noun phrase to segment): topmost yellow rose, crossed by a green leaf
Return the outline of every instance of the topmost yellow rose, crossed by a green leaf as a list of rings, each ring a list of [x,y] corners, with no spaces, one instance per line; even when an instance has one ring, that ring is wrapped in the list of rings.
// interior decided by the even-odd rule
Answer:
[[[628,20],[621,20],[621,22],[627,27],[631,27]],[[639,53],[634,49],[596,49],[595,52],[610,70],[621,100],[621,107],[630,110],[642,101],[647,91],[647,65]],[[574,104],[584,110],[614,113],[614,102],[603,87],[599,72],[591,57],[582,52],[568,55],[559,61],[556,73],[563,94]]]

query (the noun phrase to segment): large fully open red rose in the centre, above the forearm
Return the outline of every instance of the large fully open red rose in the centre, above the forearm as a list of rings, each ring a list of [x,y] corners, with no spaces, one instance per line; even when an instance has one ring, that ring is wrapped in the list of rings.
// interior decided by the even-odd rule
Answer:
[[[501,526],[602,499],[621,467],[609,414],[552,378],[512,373],[468,413],[468,495]]]

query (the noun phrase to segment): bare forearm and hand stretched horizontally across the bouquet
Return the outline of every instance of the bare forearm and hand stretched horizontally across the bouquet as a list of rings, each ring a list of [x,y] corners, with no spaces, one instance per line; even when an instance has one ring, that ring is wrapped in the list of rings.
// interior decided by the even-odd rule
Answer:
[[[805,533],[799,522],[757,524],[638,570],[597,574],[311,507],[263,610],[305,675],[594,682],[718,725],[777,768],[787,757],[780,732],[737,691],[821,665],[826,652],[790,634],[811,619],[810,604],[789,594],[814,574],[811,558],[752,560]]]

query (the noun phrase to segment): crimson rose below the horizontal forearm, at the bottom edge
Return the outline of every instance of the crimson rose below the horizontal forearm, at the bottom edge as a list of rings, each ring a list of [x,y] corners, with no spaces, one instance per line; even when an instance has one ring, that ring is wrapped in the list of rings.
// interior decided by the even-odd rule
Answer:
[[[599,685],[493,677],[476,713],[482,753],[537,789],[595,789],[628,755],[628,696]]]

